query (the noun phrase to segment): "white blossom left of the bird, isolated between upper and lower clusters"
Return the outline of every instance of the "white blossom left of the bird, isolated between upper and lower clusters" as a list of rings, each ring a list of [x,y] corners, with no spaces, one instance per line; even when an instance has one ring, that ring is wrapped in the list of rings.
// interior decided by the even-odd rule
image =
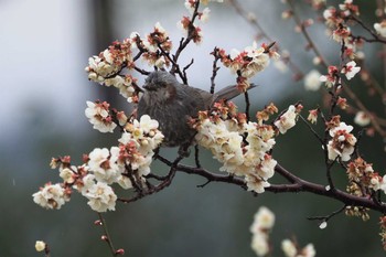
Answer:
[[[114,129],[117,127],[117,125],[112,122],[108,108],[109,104],[106,101],[93,103],[88,100],[87,108],[85,110],[88,121],[94,125],[93,128],[104,133],[114,132]]]

